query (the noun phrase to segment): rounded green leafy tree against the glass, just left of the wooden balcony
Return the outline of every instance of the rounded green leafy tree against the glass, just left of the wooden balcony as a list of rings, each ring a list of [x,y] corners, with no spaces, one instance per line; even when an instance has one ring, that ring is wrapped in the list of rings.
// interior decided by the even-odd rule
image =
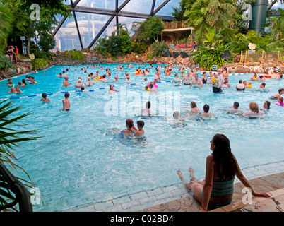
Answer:
[[[153,16],[141,23],[134,23],[131,28],[132,31],[136,32],[138,42],[146,42],[147,44],[155,42],[155,39],[162,35],[164,29],[162,20]]]

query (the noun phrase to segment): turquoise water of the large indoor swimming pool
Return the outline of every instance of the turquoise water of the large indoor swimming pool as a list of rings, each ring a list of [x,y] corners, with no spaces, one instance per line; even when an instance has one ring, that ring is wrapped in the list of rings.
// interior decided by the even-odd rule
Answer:
[[[21,88],[24,92],[20,95],[7,94],[7,81],[0,82],[1,99],[39,95],[14,100],[16,106],[23,106],[17,114],[32,112],[26,117],[25,126],[17,129],[35,129],[38,131],[37,136],[42,136],[37,141],[21,143],[15,152],[18,165],[28,172],[32,182],[40,189],[41,203],[35,206],[35,211],[61,211],[177,184],[180,182],[177,169],[181,169],[187,177],[187,169],[192,167],[196,177],[204,177],[206,156],[211,154],[210,141],[215,133],[224,133],[230,139],[232,153],[237,157],[241,169],[284,160],[284,108],[276,106],[276,100],[270,100],[271,109],[261,119],[251,120],[226,112],[235,101],[240,103],[240,109],[244,112],[247,112],[251,101],[257,102],[262,108],[265,100],[277,93],[279,88],[284,88],[283,79],[265,81],[269,89],[266,92],[257,90],[260,81],[252,81],[252,90],[237,92],[234,87],[239,79],[249,81],[252,75],[230,75],[232,88],[214,94],[209,84],[201,90],[189,90],[188,85],[172,86],[171,83],[165,83],[172,81],[174,73],[178,72],[178,67],[174,67],[170,78],[162,73],[163,82],[158,83],[158,93],[148,96],[151,102],[160,100],[157,101],[160,108],[154,105],[152,107],[160,115],[144,119],[135,115],[140,111],[138,107],[144,107],[147,98],[145,84],[141,84],[145,77],[133,73],[140,65],[134,64],[134,69],[127,69],[126,64],[123,64],[131,81],[136,83],[126,86],[123,76],[125,71],[117,73],[114,70],[117,65],[102,64],[112,69],[110,83],[95,82],[95,85],[85,88],[87,92],[71,92],[69,112],[62,111],[64,93],[57,92],[78,90],[72,85],[78,76],[86,83],[85,77],[88,74],[83,73],[85,70],[94,74],[99,71],[100,75],[105,70],[89,67],[81,71],[83,66],[78,66],[78,71],[73,71],[73,66],[70,66],[67,74],[72,85],[64,88],[64,79],[56,74],[67,66],[53,66],[46,70],[46,74],[43,71],[32,73],[37,84]],[[150,75],[147,76],[149,81],[153,81],[154,73],[155,69],[150,69]],[[116,74],[122,79],[112,82]],[[12,78],[13,83],[18,83],[22,78],[25,76]],[[115,85],[114,88],[119,93],[106,94],[110,84]],[[96,88],[106,89],[95,90]],[[43,92],[54,93],[48,96],[50,103],[40,101]],[[122,102],[124,92],[126,102]],[[189,106],[194,100],[201,111],[203,105],[208,104],[210,112],[214,112],[218,119],[187,119],[184,124],[171,124],[165,120],[162,110],[168,112],[168,118],[172,118],[172,112],[176,108],[170,105],[163,108],[162,99],[159,99],[163,95],[175,99],[173,104],[180,100],[180,106]],[[118,111],[115,110],[116,104],[110,107],[110,101],[115,100],[115,97],[118,98]],[[137,102],[138,106],[135,107]],[[182,117],[185,116],[185,110],[180,109]],[[117,114],[110,116],[110,112]],[[137,141],[119,136],[118,131],[125,129],[125,120],[128,118],[134,120],[135,126],[136,121],[145,121],[144,139]],[[25,177],[21,172],[15,173]]]

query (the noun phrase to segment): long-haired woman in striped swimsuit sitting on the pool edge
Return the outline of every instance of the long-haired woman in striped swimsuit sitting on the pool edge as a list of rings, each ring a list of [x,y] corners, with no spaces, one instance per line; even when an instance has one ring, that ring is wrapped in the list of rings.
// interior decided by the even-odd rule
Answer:
[[[264,192],[256,193],[247,179],[242,174],[237,163],[237,159],[231,152],[230,141],[223,134],[215,134],[210,141],[212,150],[211,155],[206,158],[206,176],[203,180],[197,180],[194,177],[193,169],[189,168],[190,182],[184,180],[182,172],[177,171],[177,175],[184,183],[184,186],[194,193],[199,203],[201,203],[200,212],[206,212],[209,209],[227,206],[232,202],[234,193],[235,176],[252,190],[253,196],[270,197]]]

